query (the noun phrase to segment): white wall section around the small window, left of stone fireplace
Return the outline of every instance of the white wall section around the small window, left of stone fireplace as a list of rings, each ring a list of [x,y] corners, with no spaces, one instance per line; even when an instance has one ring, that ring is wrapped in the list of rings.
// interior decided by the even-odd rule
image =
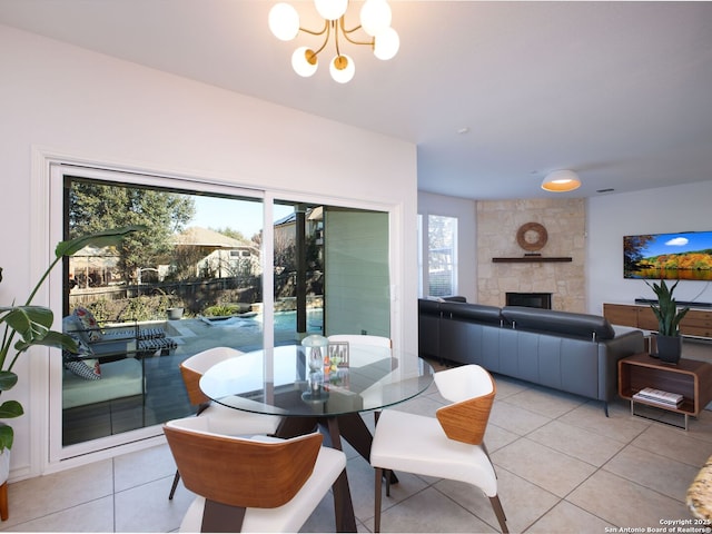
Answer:
[[[418,194],[418,214],[457,217],[457,294],[477,301],[477,207],[466,198],[447,197],[433,192]]]

